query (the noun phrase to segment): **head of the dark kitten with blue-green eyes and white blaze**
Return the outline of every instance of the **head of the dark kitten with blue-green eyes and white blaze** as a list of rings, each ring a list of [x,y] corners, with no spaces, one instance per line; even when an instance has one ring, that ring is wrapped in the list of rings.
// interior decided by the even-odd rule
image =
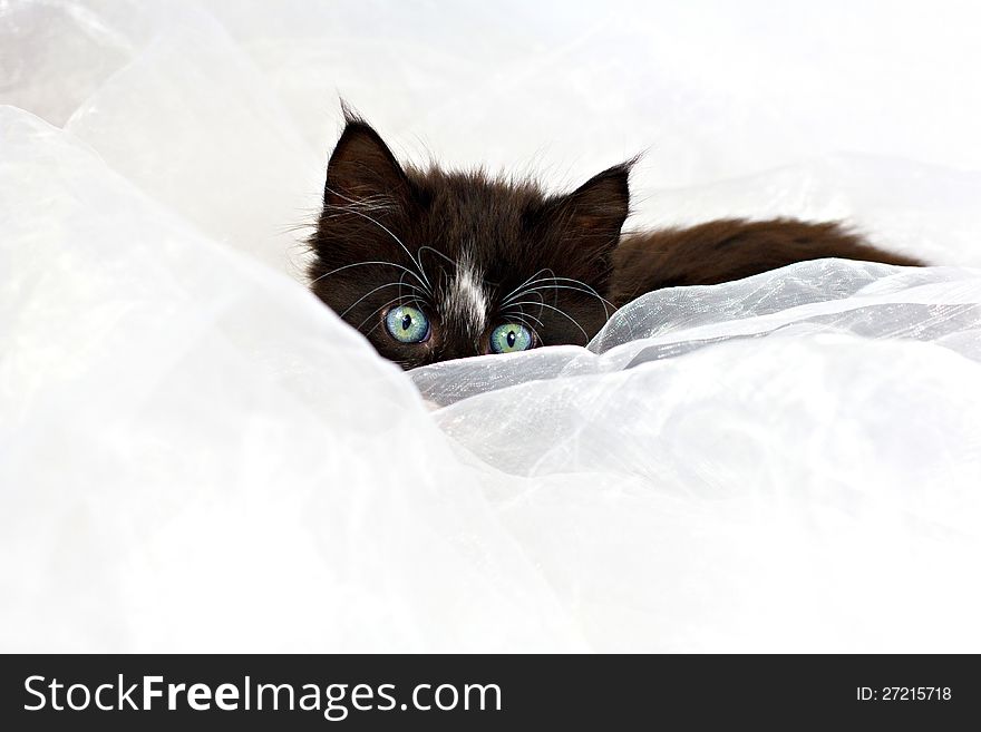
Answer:
[[[531,183],[402,167],[371,127],[346,117],[309,274],[381,355],[411,369],[585,345],[600,330],[629,163],[547,196]]]

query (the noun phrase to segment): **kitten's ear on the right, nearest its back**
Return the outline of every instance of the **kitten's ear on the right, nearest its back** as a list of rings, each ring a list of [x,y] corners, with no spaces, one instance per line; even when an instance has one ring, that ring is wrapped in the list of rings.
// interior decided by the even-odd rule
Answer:
[[[574,246],[605,254],[620,241],[620,230],[630,213],[630,167],[633,160],[614,165],[593,176],[556,202],[555,221]]]

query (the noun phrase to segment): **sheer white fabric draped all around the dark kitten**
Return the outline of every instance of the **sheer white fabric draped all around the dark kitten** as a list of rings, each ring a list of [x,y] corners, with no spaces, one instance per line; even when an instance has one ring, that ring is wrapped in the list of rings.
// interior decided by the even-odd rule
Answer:
[[[971,12],[0,3],[0,650],[981,651]],[[338,90],[555,189],[651,146],[631,225],[945,266],[405,374],[299,282]]]

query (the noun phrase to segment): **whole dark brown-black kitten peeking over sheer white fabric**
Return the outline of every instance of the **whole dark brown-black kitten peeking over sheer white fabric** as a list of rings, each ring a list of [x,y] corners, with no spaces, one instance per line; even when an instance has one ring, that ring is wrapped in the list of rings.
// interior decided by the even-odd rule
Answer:
[[[914,260],[835,224],[717,221],[628,235],[631,163],[570,194],[480,172],[399,165],[344,109],[310,238],[311,290],[404,369],[538,345],[585,345],[659,287],[715,284],[804,260]],[[618,246],[619,244],[619,246]]]

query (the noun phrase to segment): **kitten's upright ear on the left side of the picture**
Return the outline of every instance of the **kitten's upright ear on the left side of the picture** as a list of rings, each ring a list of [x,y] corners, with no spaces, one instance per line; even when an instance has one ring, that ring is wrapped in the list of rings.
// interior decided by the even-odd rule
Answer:
[[[344,110],[347,125],[327,165],[324,205],[402,202],[408,178],[388,146],[362,119]]]

